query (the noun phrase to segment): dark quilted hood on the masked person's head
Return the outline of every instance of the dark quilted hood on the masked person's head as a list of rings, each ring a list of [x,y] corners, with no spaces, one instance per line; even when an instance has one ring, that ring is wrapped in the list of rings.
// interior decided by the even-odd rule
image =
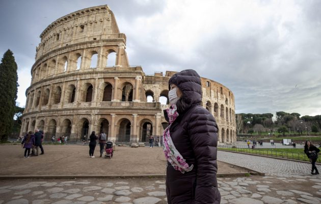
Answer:
[[[175,84],[183,93],[182,98],[176,103],[179,114],[188,110],[191,106],[201,103],[201,78],[195,70],[186,69],[175,73],[168,82],[169,90],[171,84]]]

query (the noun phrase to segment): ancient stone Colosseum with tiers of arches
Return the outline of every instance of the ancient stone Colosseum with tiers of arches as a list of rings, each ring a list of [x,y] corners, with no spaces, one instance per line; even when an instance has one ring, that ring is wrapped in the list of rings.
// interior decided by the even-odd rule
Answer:
[[[126,35],[107,5],[79,10],[52,22],[40,35],[20,135],[43,130],[45,140],[81,141],[92,131],[116,143],[162,139],[168,80],[174,71],[146,75],[130,66]],[[233,93],[201,78],[202,106],[216,118],[219,141],[236,141]]]

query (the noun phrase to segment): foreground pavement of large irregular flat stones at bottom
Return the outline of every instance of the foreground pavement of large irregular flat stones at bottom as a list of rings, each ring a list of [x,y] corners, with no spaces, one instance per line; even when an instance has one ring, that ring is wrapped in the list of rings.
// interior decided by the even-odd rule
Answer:
[[[164,179],[2,180],[0,204],[162,204]],[[218,178],[221,203],[321,203],[321,176]]]

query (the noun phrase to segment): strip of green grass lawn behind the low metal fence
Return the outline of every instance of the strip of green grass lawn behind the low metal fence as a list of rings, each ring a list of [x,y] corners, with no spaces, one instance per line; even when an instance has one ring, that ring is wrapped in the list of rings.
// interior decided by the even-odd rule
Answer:
[[[309,161],[309,158],[304,154],[303,148],[232,148],[232,147],[218,147],[219,150],[245,152],[253,155],[263,155],[270,157],[279,157],[293,160]],[[320,149],[320,148],[319,148]],[[317,159],[317,163],[321,163],[320,157]]]

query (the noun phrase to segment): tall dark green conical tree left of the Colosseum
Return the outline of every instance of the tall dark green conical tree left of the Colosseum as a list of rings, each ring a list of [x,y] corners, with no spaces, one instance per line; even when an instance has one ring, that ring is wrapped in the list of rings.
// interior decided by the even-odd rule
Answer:
[[[0,64],[0,140],[8,140],[12,132],[18,90],[17,64],[10,49]]]

